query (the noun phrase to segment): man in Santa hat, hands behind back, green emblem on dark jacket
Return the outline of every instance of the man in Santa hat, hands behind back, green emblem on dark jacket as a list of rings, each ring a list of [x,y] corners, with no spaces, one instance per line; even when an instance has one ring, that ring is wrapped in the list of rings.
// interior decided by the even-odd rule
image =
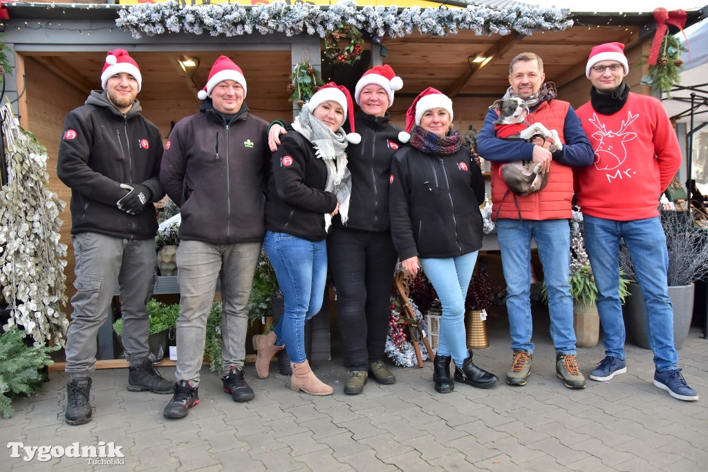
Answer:
[[[244,380],[246,328],[253,274],[265,234],[268,123],[244,102],[246,79],[228,57],[216,60],[199,91],[199,113],[170,133],[160,170],[167,195],[181,208],[177,277],[177,387],[166,418],[184,418],[199,403],[207,316],[222,277],[224,391],[236,402],[253,399]]]

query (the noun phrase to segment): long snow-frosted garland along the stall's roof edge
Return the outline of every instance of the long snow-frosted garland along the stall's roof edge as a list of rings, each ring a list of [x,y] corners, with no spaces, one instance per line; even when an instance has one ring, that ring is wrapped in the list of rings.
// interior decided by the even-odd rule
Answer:
[[[445,36],[459,30],[473,30],[476,35],[524,35],[542,30],[565,30],[573,25],[567,8],[510,7],[489,8],[469,5],[467,8],[399,8],[364,6],[353,1],[340,1],[329,8],[283,1],[273,4],[240,6],[239,4],[181,5],[177,1],[138,4],[122,8],[115,24],[130,30],[133,38],[164,33],[193,33],[212,36],[239,36],[257,32],[263,35],[285,33],[287,36],[307,33],[324,38],[326,31],[348,24],[382,38],[401,38],[418,30],[421,34]]]

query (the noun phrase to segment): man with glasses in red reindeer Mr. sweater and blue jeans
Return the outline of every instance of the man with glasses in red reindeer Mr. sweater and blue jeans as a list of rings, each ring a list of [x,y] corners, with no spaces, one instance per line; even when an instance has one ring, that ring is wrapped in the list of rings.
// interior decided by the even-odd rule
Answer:
[[[590,379],[607,381],[627,372],[624,321],[619,301],[619,242],[632,255],[644,294],[654,385],[679,400],[698,400],[676,364],[673,306],[668,297],[666,236],[658,200],[681,165],[681,150],[661,101],[631,93],[624,45],[593,47],[586,75],[590,101],[578,108],[595,151],[592,166],[575,168],[575,189],[584,217],[585,241],[598,287],[598,311],[605,332],[605,359]]]

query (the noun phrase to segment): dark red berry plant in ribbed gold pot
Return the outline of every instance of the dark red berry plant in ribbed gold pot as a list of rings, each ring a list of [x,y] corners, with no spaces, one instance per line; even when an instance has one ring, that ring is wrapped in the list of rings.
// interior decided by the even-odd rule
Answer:
[[[486,331],[486,310],[490,308],[496,293],[486,270],[480,269],[472,277],[464,299],[464,327],[467,330],[467,347],[484,349],[489,346],[489,336]]]

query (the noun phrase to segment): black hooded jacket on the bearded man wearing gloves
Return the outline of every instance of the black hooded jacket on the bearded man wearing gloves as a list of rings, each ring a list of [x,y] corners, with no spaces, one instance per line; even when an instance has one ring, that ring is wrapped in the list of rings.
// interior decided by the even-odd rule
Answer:
[[[151,202],[165,192],[159,181],[162,141],[135,100],[125,115],[105,91],[91,91],[86,103],[64,118],[57,176],[72,189],[72,234],[96,232],[126,239],[154,238],[153,205],[131,215],[118,209],[127,193],[121,183],[145,185]]]

